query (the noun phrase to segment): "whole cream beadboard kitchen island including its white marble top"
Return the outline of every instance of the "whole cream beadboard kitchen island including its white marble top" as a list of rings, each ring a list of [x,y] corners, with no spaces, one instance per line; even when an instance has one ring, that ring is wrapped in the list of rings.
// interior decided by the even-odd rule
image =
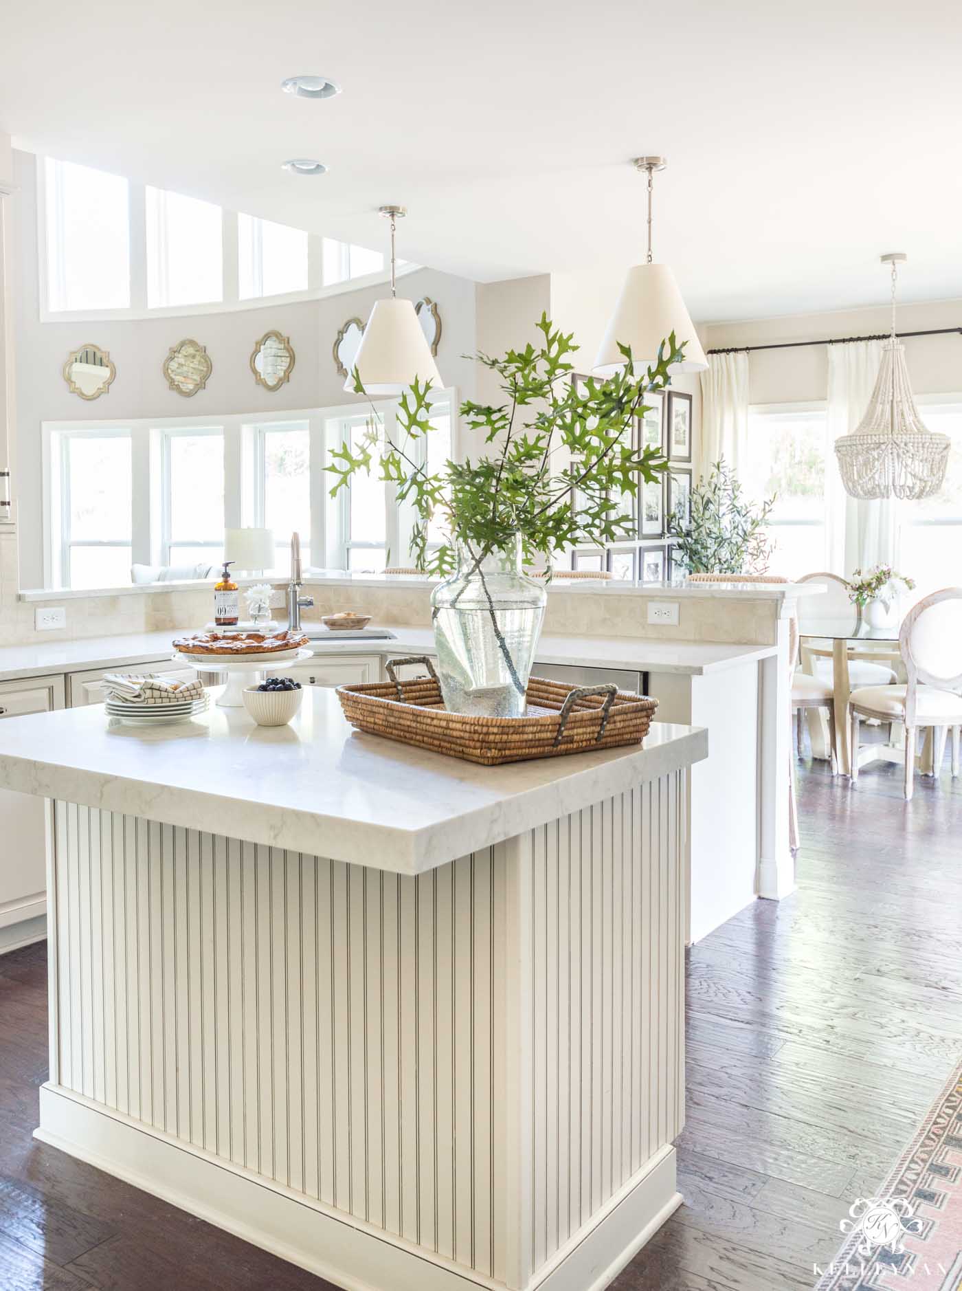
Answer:
[[[681,1202],[704,729],[483,768],[212,709],[12,718],[49,800],[37,1137],[369,1291],[603,1287]]]

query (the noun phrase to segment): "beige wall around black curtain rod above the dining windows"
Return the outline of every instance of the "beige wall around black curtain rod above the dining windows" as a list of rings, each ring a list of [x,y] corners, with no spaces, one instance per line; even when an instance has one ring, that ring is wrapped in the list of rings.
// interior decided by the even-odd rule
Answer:
[[[705,347],[771,345],[777,341],[811,341],[830,337],[872,336],[887,332],[887,306],[846,310],[835,314],[799,314],[749,323],[715,323],[705,327]],[[962,301],[935,301],[899,306],[899,330],[962,327]],[[962,391],[962,336],[927,336],[905,341],[905,359],[916,394]],[[753,404],[798,403],[825,399],[828,347],[763,350],[749,355]]]

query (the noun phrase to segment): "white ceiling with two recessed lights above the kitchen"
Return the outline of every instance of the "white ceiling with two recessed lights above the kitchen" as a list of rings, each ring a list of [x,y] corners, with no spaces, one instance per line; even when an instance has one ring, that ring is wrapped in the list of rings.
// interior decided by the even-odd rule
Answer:
[[[704,321],[962,296],[952,0],[35,0],[4,18],[14,143],[483,281],[656,258]],[[337,98],[281,94],[323,72]],[[331,173],[291,176],[316,156]]]

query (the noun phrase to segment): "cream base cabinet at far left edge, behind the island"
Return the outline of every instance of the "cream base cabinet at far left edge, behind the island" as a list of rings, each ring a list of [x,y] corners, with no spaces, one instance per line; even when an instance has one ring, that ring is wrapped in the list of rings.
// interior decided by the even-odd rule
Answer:
[[[62,676],[0,682],[0,722],[65,706]],[[43,798],[0,789],[0,953],[46,931],[46,833]]]

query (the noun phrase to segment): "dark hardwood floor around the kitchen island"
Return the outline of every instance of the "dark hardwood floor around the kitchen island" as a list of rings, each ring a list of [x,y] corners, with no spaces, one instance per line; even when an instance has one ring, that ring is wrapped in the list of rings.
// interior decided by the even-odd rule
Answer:
[[[839,1243],[962,1051],[962,780],[799,775],[798,892],[690,953],[686,1203],[617,1291],[794,1291]],[[44,946],[0,958],[0,1288],[328,1283],[35,1143]]]

